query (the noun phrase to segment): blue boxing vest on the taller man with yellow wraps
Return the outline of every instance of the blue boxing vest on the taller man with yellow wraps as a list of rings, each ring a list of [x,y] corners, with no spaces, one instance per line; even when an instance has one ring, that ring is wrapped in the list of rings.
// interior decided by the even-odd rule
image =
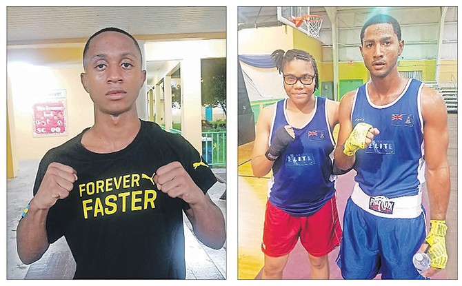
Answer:
[[[420,108],[423,83],[410,79],[403,92],[388,105],[374,105],[368,83],[356,90],[352,125],[377,127],[379,135],[365,150],[356,152],[354,178],[369,196],[413,196],[425,181],[423,119]]]

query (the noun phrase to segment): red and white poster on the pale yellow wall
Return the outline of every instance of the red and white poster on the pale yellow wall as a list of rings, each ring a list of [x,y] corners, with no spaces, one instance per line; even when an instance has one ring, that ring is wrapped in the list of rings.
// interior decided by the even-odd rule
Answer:
[[[65,91],[61,96],[65,97]],[[55,99],[37,102],[32,105],[32,117],[34,124],[34,136],[59,136],[66,135],[66,99],[58,99],[56,93],[48,99]],[[56,100],[58,99],[58,100]]]

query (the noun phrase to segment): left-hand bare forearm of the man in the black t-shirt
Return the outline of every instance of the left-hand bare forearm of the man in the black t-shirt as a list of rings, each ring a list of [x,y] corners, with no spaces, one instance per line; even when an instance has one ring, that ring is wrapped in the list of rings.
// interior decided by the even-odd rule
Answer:
[[[38,261],[46,252],[48,238],[46,235],[46,217],[48,210],[39,210],[30,202],[27,215],[19,221],[17,227],[17,252],[21,261],[30,264]]]

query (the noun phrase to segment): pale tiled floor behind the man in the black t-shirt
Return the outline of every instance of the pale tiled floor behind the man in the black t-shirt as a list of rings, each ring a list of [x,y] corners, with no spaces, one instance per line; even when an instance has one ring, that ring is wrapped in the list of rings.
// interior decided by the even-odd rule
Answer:
[[[71,279],[75,262],[66,240],[59,239],[50,245],[43,257],[32,265],[24,265],[16,251],[16,227],[23,208],[32,196],[32,185],[37,172],[38,161],[21,161],[17,177],[7,183],[7,279]],[[226,178],[225,169],[214,169],[217,176]],[[226,190],[225,183],[216,183],[209,195],[223,214],[226,201],[220,197]],[[185,218],[185,259],[187,279],[225,279],[226,247],[219,250],[202,245],[194,237],[188,219]]]

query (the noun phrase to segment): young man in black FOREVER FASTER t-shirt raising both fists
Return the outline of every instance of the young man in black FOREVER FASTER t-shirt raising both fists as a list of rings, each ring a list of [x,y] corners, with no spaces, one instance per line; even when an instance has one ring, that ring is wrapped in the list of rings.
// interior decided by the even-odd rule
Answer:
[[[223,246],[223,214],[206,194],[216,179],[201,154],[138,118],[141,62],[137,41],[123,30],[88,40],[81,82],[95,122],[43,157],[17,228],[23,263],[65,236],[74,278],[185,278],[183,211],[199,240]]]

